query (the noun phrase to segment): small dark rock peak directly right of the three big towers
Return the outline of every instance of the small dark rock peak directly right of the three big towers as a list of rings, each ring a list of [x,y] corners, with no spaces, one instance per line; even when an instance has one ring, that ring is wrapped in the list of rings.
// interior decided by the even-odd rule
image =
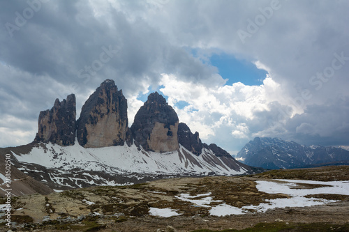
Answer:
[[[200,155],[202,152],[202,142],[199,138],[199,133],[195,132],[193,134],[186,123],[179,123],[178,125],[178,142],[195,155]]]

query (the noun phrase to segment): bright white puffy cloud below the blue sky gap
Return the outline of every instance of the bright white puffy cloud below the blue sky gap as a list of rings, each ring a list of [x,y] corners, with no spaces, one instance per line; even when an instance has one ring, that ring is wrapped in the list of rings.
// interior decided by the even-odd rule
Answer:
[[[260,86],[246,86],[241,82],[231,86],[205,86],[184,82],[175,75],[163,74],[160,91],[168,96],[170,105],[191,130],[200,132],[204,140],[217,144],[240,146],[239,140],[251,138],[255,130],[265,130],[276,118],[266,117],[258,129],[263,114],[279,114],[282,105],[274,107],[282,91],[272,77],[266,77]],[[177,102],[188,105],[177,107]],[[285,108],[285,107],[284,107]],[[292,111],[292,108],[288,111]],[[235,143],[236,145],[232,145]]]

